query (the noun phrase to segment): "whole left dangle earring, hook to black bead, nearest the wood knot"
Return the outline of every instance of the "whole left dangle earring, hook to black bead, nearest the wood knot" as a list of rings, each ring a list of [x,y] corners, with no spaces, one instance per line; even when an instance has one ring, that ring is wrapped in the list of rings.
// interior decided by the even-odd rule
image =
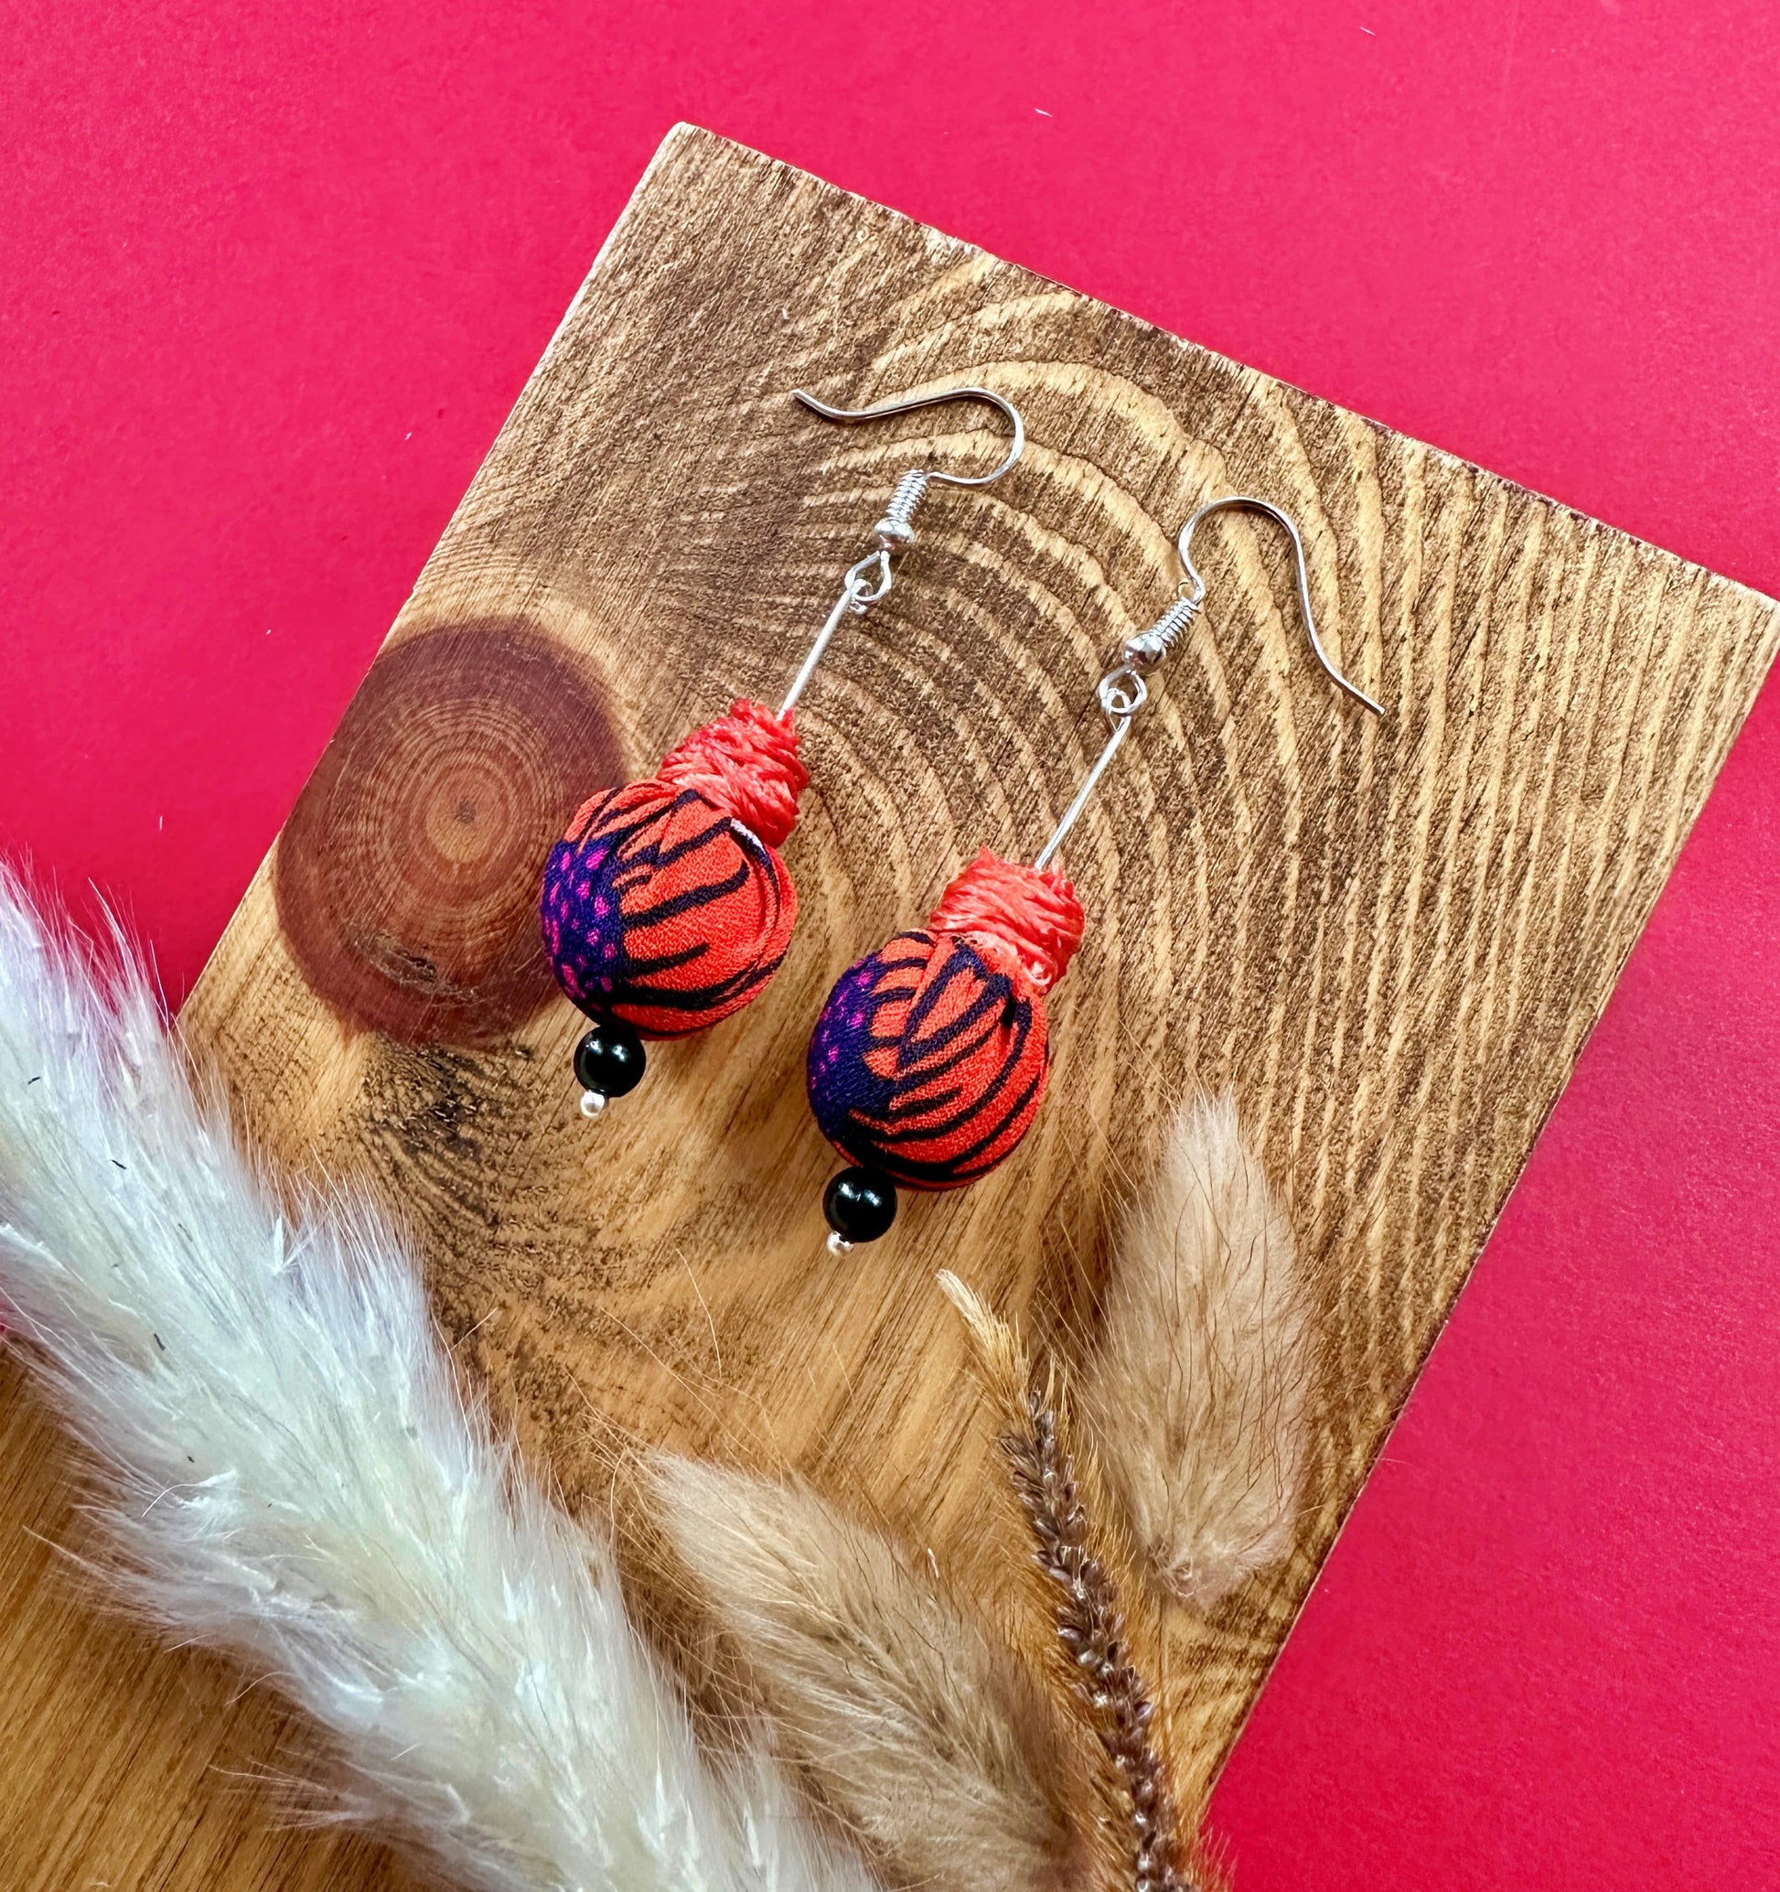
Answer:
[[[575,1048],[581,1111],[598,1116],[609,1097],[636,1090],[643,1039],[677,1039],[728,1018],[757,997],[785,957],[796,889],[779,848],[796,825],[810,772],[798,757],[793,710],[842,619],[889,596],[893,560],[914,539],[914,513],[929,486],[987,486],[1025,447],[1012,401],[987,388],[948,388],[878,407],[796,399],[825,420],[885,420],[942,401],[987,401],[1012,422],[1006,458],[967,477],[917,467],[904,473],[876,545],[842,579],[840,598],[777,713],[738,702],[692,730],[645,781],[602,789],[575,812],[545,863],[541,921],[550,969],[592,1018]]]

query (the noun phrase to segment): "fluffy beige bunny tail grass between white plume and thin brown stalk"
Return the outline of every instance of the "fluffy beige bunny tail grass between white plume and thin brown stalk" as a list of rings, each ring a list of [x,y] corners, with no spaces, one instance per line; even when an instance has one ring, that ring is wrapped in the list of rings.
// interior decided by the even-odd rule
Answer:
[[[936,1574],[794,1480],[660,1457],[651,1491],[781,1756],[891,1883],[1080,1883],[1080,1763],[1012,1652]]]

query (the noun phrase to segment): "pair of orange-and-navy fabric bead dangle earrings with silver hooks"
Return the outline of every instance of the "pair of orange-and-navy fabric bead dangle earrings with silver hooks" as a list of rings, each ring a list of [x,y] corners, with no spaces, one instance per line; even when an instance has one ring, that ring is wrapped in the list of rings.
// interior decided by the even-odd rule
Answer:
[[[777,713],[736,702],[728,715],[692,730],[645,781],[594,795],[550,850],[543,935],[558,984],[594,1022],[575,1048],[588,1116],[637,1086],[643,1039],[685,1037],[728,1018],[779,969],[796,889],[777,850],[810,781],[793,727],[796,702],[840,624],[889,596],[893,560],[914,539],[914,513],[929,486],[987,486],[1025,447],[1020,411],[987,388],[864,409],[829,407],[802,390],[796,399],[840,422],[987,401],[1012,424],[1012,441],[989,473],[914,469],[897,481],[872,528],[874,549],[844,575]],[[1012,1154],[1031,1128],[1050,1075],[1044,997],[1084,929],[1082,902],[1052,861],[1148,702],[1146,675],[1203,609],[1194,530],[1231,507],[1265,513],[1284,528],[1317,662],[1337,689],[1383,713],[1322,649],[1290,515],[1237,494],[1201,505],[1177,541],[1178,596],[1148,630],[1126,639],[1101,677],[1107,742],[1031,865],[986,848],[946,887],[925,927],[899,933],[851,965],[823,1005],[810,1039],[810,1107],[851,1165],[823,1198],[834,1253],[889,1230],[899,1184],[961,1188]]]

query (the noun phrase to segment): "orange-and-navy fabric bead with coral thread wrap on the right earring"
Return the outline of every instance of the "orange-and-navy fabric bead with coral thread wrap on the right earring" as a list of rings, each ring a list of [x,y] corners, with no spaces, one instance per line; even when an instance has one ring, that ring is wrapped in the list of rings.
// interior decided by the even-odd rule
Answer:
[[[987,1175],[1044,1101],[1044,993],[1080,938],[1061,874],[982,853],[927,927],[866,954],[829,993],[808,1061],[823,1135],[906,1188]]]

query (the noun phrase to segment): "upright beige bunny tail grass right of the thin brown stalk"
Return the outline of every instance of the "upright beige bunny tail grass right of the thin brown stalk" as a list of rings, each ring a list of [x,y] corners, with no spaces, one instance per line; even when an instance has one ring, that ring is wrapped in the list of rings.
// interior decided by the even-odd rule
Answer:
[[[1235,1099],[1167,1128],[1126,1215],[1080,1419],[1160,1584],[1209,1610],[1292,1548],[1313,1323]]]

